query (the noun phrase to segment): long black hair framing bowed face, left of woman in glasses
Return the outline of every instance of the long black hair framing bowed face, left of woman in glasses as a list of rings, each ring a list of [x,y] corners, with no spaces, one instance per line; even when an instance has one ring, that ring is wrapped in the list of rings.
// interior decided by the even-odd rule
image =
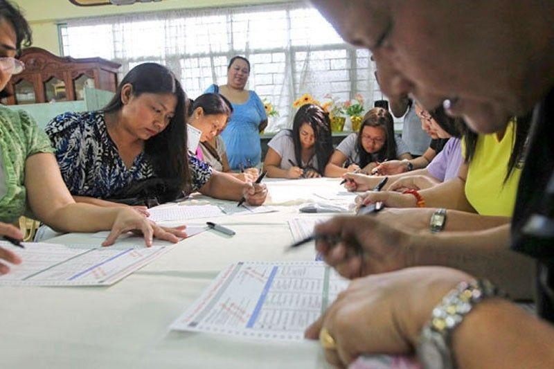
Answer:
[[[314,156],[317,158],[317,167],[313,168],[319,174],[325,172],[331,154],[333,152],[331,122],[329,114],[319,105],[302,105],[294,115],[292,123],[292,141],[294,143],[294,158],[296,163],[302,163],[302,145],[300,143],[300,127],[303,124],[310,125],[314,130]]]

